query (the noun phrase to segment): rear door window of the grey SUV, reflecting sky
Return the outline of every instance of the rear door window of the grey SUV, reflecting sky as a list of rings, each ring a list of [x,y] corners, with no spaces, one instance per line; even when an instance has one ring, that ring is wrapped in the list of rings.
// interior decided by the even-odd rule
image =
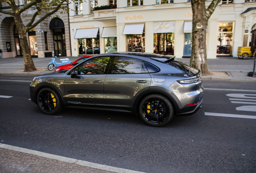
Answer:
[[[132,58],[115,57],[111,74],[145,73],[142,63]]]

